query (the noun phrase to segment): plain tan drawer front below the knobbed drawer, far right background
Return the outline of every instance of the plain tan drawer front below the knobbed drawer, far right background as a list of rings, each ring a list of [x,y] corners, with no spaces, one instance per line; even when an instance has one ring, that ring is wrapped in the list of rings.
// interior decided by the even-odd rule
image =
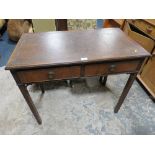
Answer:
[[[149,37],[143,36],[135,31],[133,31],[128,22],[124,26],[124,32],[133,40],[138,42],[143,48],[148,52],[151,52],[154,47],[154,41]]]

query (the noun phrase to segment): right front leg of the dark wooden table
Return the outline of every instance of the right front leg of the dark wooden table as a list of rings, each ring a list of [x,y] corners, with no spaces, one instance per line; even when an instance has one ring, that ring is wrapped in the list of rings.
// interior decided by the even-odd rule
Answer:
[[[123,89],[123,92],[122,92],[122,94],[121,94],[121,96],[119,98],[119,101],[118,101],[118,103],[117,103],[117,105],[116,105],[116,107],[114,109],[115,113],[117,113],[119,111],[121,105],[123,104],[123,101],[124,101],[125,97],[127,96],[127,94],[129,92],[129,90],[130,90],[136,76],[137,76],[137,73],[131,73],[130,74],[130,77],[129,77],[129,79],[128,79],[128,81],[127,81],[127,83],[126,83],[126,85],[125,85],[125,87]]]

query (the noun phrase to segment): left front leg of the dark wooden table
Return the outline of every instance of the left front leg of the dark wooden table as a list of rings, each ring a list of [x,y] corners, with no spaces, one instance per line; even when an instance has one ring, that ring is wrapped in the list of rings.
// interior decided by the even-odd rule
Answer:
[[[27,87],[25,85],[18,85],[18,87],[19,87],[21,93],[23,94],[28,106],[30,107],[34,117],[36,118],[38,124],[41,124],[42,123],[41,117],[39,116],[39,113],[31,99],[31,96],[27,90]]]

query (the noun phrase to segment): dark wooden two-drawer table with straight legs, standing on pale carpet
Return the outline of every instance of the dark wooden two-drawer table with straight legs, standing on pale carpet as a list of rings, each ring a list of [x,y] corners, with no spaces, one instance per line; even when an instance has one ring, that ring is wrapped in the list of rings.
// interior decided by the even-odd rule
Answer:
[[[37,122],[41,117],[27,85],[52,80],[129,73],[129,79],[114,109],[120,109],[138,71],[149,53],[118,28],[75,32],[23,34],[7,70],[10,70]],[[43,87],[41,87],[44,92]],[[104,101],[103,101],[104,102]]]

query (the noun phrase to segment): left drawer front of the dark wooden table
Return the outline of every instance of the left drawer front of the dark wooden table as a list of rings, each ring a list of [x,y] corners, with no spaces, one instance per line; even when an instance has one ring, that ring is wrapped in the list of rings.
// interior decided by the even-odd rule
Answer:
[[[56,67],[17,72],[22,83],[43,82],[80,77],[80,66]]]

